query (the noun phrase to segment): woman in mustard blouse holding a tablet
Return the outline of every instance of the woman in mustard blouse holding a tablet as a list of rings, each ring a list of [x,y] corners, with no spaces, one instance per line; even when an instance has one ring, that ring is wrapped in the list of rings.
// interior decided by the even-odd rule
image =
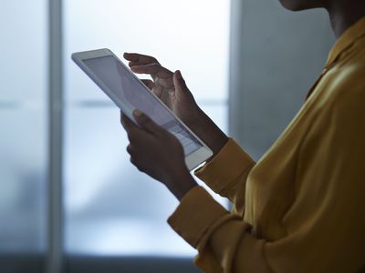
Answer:
[[[181,203],[168,222],[197,248],[205,272],[365,272],[365,2],[282,0],[290,10],[328,10],[338,37],[308,99],[254,162],[196,105],[179,71],[125,54],[135,73],[214,151],[195,173],[234,203],[197,186],[183,147],[136,110],[122,116],[130,161]]]

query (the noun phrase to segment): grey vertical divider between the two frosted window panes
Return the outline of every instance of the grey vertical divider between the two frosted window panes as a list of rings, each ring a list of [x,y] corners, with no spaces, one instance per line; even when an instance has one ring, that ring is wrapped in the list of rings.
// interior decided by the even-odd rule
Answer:
[[[47,1],[48,17],[48,188],[47,273],[63,268],[63,66],[62,0]]]

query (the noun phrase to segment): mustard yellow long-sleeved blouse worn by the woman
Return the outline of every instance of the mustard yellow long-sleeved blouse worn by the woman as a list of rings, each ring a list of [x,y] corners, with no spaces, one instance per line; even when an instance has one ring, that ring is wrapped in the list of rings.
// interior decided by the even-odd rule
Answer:
[[[308,100],[255,163],[233,139],[168,219],[204,272],[365,272],[365,18],[331,50]]]

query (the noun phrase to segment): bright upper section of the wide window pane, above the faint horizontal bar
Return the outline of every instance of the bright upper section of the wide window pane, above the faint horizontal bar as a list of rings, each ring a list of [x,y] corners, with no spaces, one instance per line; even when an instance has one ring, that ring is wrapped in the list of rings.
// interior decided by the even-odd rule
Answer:
[[[106,99],[70,61],[73,52],[104,47],[118,56],[156,56],[182,70],[197,99],[225,99],[228,15],[229,1],[223,0],[66,0],[68,100]]]

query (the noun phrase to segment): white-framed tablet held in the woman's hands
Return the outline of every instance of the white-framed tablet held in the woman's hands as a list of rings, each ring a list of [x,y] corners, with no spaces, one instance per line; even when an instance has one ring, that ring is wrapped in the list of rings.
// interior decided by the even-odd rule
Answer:
[[[109,49],[74,53],[72,59],[133,122],[132,112],[139,109],[176,136],[183,145],[189,170],[213,156],[212,150]]]

